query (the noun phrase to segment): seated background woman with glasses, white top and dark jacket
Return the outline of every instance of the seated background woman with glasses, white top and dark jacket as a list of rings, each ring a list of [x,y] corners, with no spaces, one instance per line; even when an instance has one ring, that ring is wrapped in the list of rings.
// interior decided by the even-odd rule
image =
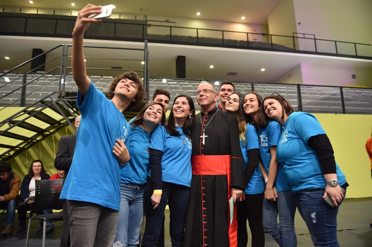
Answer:
[[[20,189],[20,198],[21,203],[26,201],[29,196],[35,196],[35,180],[48,180],[50,176],[45,172],[43,162],[41,160],[34,160],[31,163],[28,174],[23,178],[21,189]],[[30,211],[32,200],[28,200],[26,205],[18,205],[18,220],[19,227],[17,228],[17,233],[26,229],[26,214],[27,211]],[[52,214],[52,209],[43,210],[43,214]],[[54,230],[53,222],[47,222],[46,233],[50,233]],[[43,231],[43,225],[40,225],[36,228],[36,232],[40,233]]]

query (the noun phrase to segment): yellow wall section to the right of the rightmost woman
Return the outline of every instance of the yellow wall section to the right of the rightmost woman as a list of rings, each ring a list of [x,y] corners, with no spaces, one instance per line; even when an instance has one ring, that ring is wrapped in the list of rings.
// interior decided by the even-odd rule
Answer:
[[[349,183],[347,198],[372,196],[371,166],[365,144],[372,115],[314,114],[331,140],[334,156]]]

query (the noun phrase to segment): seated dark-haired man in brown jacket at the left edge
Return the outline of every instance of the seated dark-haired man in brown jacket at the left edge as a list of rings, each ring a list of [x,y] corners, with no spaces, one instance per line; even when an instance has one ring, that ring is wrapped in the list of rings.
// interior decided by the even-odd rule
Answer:
[[[12,234],[20,184],[21,179],[12,172],[10,163],[0,161],[0,209],[6,209],[6,223],[2,235]]]

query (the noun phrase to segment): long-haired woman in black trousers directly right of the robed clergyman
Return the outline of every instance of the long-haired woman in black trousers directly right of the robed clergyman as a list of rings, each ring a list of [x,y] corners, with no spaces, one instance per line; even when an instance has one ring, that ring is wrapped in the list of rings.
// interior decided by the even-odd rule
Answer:
[[[238,247],[247,246],[247,220],[252,234],[252,246],[263,247],[265,236],[262,225],[262,200],[264,184],[259,168],[259,140],[255,126],[247,121],[246,100],[241,93],[233,92],[225,108],[238,118],[240,147],[244,160],[244,196],[237,203]],[[256,104],[258,110],[258,104]]]

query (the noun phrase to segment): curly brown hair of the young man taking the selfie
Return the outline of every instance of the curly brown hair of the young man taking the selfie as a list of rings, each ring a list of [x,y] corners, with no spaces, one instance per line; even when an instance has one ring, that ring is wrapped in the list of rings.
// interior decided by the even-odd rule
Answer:
[[[118,85],[119,81],[121,81],[122,79],[129,79],[131,81],[134,81],[135,84],[137,84],[138,86],[138,92],[136,96],[134,97],[134,101],[132,101],[127,107],[127,110],[132,110],[136,108],[138,105],[140,105],[146,96],[146,92],[145,92],[145,88],[143,86],[142,80],[135,71],[128,71],[121,75],[117,75],[113,79],[109,87],[108,98],[111,100],[114,97],[115,88]]]

